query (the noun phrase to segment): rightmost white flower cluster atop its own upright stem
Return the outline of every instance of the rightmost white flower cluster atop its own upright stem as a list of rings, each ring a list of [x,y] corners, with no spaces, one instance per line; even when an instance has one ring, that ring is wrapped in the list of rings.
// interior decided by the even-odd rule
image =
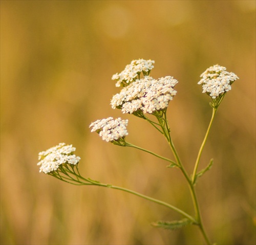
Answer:
[[[212,99],[231,90],[230,85],[239,79],[236,74],[227,72],[224,66],[218,64],[210,66],[200,77],[202,79],[198,84],[202,84],[203,93],[208,94]]]

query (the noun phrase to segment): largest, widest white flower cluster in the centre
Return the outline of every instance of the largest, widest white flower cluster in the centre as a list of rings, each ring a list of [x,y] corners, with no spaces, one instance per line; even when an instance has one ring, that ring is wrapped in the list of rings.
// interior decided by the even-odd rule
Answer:
[[[154,79],[145,76],[124,87],[119,94],[113,96],[113,109],[121,108],[122,113],[132,114],[137,110],[152,114],[155,110],[164,109],[177,93],[174,86],[178,83],[171,76]]]

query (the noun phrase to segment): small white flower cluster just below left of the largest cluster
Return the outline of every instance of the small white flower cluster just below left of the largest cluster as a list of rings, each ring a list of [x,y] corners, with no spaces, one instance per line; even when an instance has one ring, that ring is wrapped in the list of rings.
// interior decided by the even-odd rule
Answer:
[[[99,133],[99,136],[102,137],[102,140],[106,142],[109,141],[118,141],[120,138],[124,138],[128,135],[126,130],[126,126],[128,124],[128,120],[122,120],[121,118],[113,119],[112,117],[97,120],[89,127],[93,127],[91,132],[96,131]]]

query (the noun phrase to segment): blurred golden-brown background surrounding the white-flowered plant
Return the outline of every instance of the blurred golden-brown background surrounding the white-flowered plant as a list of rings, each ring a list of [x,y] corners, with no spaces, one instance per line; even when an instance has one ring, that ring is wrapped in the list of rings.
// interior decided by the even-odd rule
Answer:
[[[91,133],[129,119],[127,141],[172,158],[151,125],[110,106],[113,74],[155,60],[179,81],[168,108],[191,173],[211,116],[197,85],[211,65],[240,80],[220,106],[199,169],[203,221],[218,244],[255,244],[255,1],[1,1],[1,244],[204,244],[197,227],[153,228],[180,215],[121,191],[73,186],[39,173],[38,152],[73,144],[80,172],[193,214],[178,169]]]

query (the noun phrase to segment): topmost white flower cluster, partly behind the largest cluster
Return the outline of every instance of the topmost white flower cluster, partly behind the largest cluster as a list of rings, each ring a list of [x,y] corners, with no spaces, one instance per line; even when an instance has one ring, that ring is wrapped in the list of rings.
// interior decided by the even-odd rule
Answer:
[[[150,71],[154,68],[154,60],[144,60],[137,59],[133,60],[131,64],[127,64],[124,70],[120,73],[116,73],[112,76],[112,80],[117,80],[116,86],[120,87],[127,86],[132,81],[136,80],[136,77],[143,72],[143,75],[146,76],[150,74]]]

